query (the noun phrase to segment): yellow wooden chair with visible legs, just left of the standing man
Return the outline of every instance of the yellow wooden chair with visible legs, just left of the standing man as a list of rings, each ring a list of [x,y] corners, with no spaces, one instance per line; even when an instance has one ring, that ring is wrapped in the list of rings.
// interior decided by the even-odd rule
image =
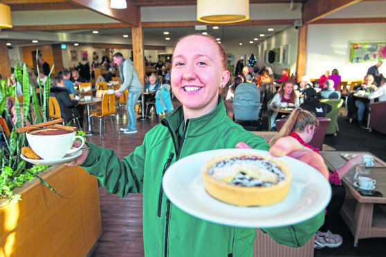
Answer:
[[[112,116],[116,116],[116,95],[115,94],[104,94],[102,97],[102,110],[91,112],[91,117],[98,117],[99,118],[99,133],[102,137],[102,140],[104,140],[104,131],[106,130],[106,116],[110,116],[111,120],[111,126],[114,129],[113,124],[113,118]],[[103,118],[103,130],[102,130],[102,118]],[[120,130],[118,126],[118,119],[117,120],[117,128],[118,128],[118,134],[120,135]]]

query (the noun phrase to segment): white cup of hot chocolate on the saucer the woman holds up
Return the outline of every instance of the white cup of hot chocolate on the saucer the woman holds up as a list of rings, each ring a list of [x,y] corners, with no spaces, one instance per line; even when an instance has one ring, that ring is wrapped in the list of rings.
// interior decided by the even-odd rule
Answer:
[[[69,153],[75,153],[84,145],[84,138],[75,136],[75,131],[59,128],[37,128],[28,131],[26,137],[31,149],[43,160],[61,159]],[[82,140],[82,145],[71,149],[76,138]]]

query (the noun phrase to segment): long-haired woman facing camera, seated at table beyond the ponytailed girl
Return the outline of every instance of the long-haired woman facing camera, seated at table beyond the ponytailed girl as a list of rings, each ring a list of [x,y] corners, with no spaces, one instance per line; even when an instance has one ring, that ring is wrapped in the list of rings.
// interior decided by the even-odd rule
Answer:
[[[270,104],[268,105],[268,111],[273,111],[272,107],[279,107],[281,103],[294,104],[295,106],[300,106],[299,98],[293,90],[293,83],[289,80],[286,80],[279,88],[276,95],[273,97],[272,102],[270,102]],[[275,120],[281,117],[281,115],[278,115],[278,113],[279,112],[277,111],[273,111],[272,116],[270,117],[271,128],[275,127]]]

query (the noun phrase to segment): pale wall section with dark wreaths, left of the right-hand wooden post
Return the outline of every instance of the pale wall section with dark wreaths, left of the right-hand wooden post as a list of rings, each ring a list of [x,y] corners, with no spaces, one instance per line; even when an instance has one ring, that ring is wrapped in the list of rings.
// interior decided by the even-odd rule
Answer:
[[[283,68],[288,68],[290,73],[295,73],[296,59],[297,59],[297,37],[298,32],[293,26],[275,34],[260,43],[259,51],[259,65],[264,64],[265,66],[271,66],[274,73],[282,73]],[[274,48],[280,48],[288,44],[288,64],[282,62],[274,62],[273,64],[264,61],[264,50],[268,51]]]

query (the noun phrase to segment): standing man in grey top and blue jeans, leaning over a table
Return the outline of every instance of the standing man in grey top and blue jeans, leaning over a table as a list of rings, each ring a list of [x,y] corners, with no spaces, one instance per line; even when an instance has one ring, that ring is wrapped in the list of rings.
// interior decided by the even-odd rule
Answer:
[[[119,66],[119,77],[121,86],[119,91],[116,92],[116,97],[120,97],[122,92],[129,89],[127,94],[127,117],[129,122],[125,128],[120,128],[125,134],[137,133],[137,119],[136,119],[136,102],[138,97],[143,91],[142,83],[138,77],[136,68],[134,68],[133,61],[131,59],[123,58],[121,53],[115,53],[113,55],[113,61]]]

